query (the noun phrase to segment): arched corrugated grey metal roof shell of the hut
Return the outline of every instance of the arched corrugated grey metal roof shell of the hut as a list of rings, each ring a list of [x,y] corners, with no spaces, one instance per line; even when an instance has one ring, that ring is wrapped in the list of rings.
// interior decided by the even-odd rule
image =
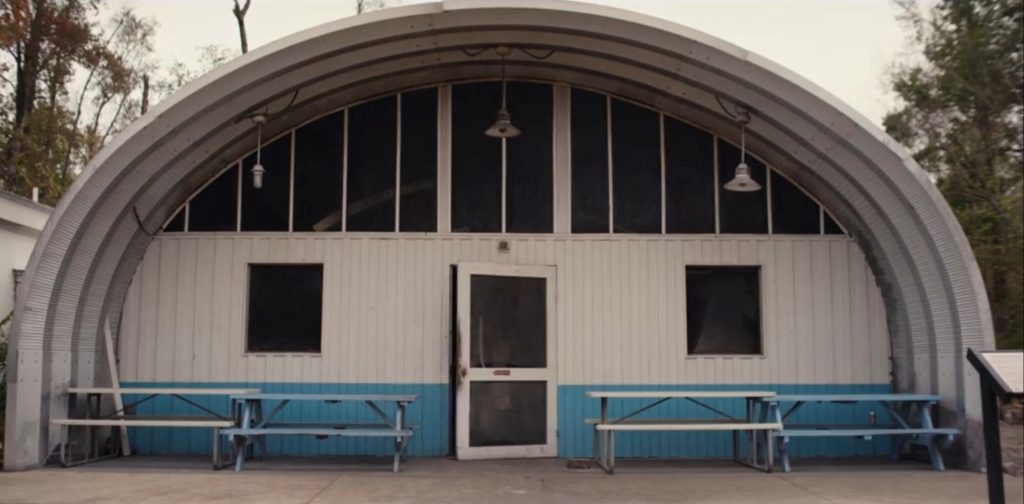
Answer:
[[[727,133],[716,96],[755,113],[750,144],[849,227],[882,284],[899,389],[941,393],[944,423],[966,427],[980,460],[976,378],[965,348],[993,346],[982,279],[952,212],[910,156],[820,88],[756,54],[662,19],[588,4],[445,1],[341,19],[250,52],[189,84],[100,152],[54,210],[16,307],[8,468],[42,462],[56,390],[88,382],[100,321],[117,320],[156,229],[191,191],[250,143],[250,112],[268,134],[311,115],[411,86],[494,77],[597,88]]]

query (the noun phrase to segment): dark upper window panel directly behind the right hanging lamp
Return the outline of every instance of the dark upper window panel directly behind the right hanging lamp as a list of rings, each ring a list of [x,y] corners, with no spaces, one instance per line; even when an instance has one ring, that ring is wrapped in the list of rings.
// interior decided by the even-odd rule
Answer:
[[[719,139],[718,141],[718,199],[719,225],[722,233],[768,233],[768,192],[766,167],[748,153],[746,164],[751,176],[761,184],[761,191],[736,193],[722,187],[732,180],[739,164],[739,149]]]

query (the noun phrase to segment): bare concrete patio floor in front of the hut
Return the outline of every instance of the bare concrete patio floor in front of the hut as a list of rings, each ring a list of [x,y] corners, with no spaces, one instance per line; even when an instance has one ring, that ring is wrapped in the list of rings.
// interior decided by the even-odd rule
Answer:
[[[197,458],[110,460],[70,469],[0,473],[2,503],[962,503],[985,502],[984,474],[916,463],[815,463],[765,474],[726,462],[622,461],[608,476],[564,460],[458,462],[252,461],[211,471]],[[1007,502],[1021,478],[1007,477]]]

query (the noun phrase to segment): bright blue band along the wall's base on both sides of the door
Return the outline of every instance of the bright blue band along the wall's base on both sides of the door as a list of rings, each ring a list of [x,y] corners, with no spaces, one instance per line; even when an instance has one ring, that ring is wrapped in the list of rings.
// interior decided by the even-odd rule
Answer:
[[[415,393],[419,400],[407,409],[408,421],[417,425],[410,440],[409,455],[436,457],[447,455],[450,444],[450,401],[447,383],[189,383],[126,382],[124,387],[254,387],[264,392],[288,393]],[[588,390],[772,390],[777,393],[886,393],[889,384],[865,385],[560,385],[558,387],[558,456],[590,457],[593,428],[584,420],[600,415],[600,403],[584,395]],[[125,395],[125,404],[141,398]],[[227,398],[194,395],[188,397],[213,411],[227,414]],[[650,402],[612,401],[609,415],[624,415]],[[741,401],[714,400],[710,406],[740,416]],[[879,423],[890,421],[880,405],[808,404],[793,417],[797,423],[866,424],[868,412],[874,411]],[[140,415],[202,415],[203,412],[172,397],[158,397],[137,407]],[[393,406],[385,409],[391,414]],[[673,400],[641,415],[640,418],[711,418],[713,414],[691,403]],[[377,417],[361,404],[296,402],[276,417],[289,421],[370,422]],[[132,450],[139,454],[201,455],[211,450],[210,429],[133,428],[129,429]],[[634,458],[725,458],[732,454],[728,432],[625,432],[615,436],[615,455]],[[387,456],[390,440],[362,437],[334,437],[317,440],[308,436],[269,436],[270,455],[373,455]],[[866,442],[852,438],[797,438],[791,444],[795,457],[878,456],[889,453],[889,439]]]

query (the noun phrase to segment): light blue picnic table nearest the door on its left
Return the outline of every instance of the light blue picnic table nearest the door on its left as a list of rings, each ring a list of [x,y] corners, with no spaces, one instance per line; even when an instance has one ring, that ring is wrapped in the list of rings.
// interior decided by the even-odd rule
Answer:
[[[266,456],[267,435],[313,435],[394,437],[392,471],[398,472],[402,452],[414,426],[406,422],[406,407],[418,398],[415,394],[366,393],[244,393],[231,395],[231,410],[241,422],[237,427],[221,430],[228,437],[234,456],[234,470],[241,471],[249,447],[256,446]],[[339,404],[354,402],[365,405],[380,421],[372,423],[290,422],[276,417],[293,402]],[[264,408],[264,403],[275,403]],[[394,418],[389,417],[378,403],[394,403]],[[266,413],[264,414],[264,411]]]

